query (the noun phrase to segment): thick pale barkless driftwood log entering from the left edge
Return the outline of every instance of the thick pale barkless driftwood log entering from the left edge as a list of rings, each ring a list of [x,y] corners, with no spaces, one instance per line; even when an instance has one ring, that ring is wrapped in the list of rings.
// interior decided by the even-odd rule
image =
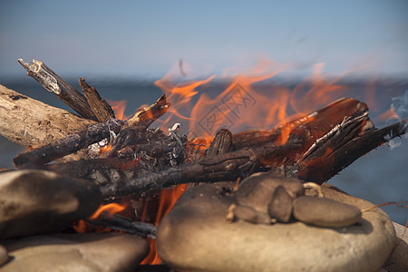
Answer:
[[[24,147],[43,146],[95,124],[0,85],[0,133]],[[63,161],[79,160],[83,153]]]

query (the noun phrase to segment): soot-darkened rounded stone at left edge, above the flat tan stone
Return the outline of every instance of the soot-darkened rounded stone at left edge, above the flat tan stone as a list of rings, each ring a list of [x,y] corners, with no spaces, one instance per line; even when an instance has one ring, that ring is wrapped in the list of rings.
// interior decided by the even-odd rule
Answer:
[[[47,170],[0,173],[0,238],[58,231],[101,203],[96,187]]]

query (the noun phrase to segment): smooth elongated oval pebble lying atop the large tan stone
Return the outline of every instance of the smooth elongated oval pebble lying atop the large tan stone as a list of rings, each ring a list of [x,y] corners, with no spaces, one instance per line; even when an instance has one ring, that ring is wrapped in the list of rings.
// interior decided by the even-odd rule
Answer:
[[[341,228],[360,221],[361,211],[333,199],[301,196],[293,201],[293,216],[306,224]]]

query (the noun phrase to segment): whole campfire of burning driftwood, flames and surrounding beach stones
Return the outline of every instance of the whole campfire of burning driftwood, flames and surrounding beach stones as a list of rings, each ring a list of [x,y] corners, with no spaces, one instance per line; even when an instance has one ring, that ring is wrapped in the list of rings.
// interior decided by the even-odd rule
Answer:
[[[28,148],[15,157],[17,170],[0,173],[4,206],[0,238],[10,256],[24,245],[33,246],[30,238],[50,233],[57,236],[45,238],[44,244],[63,240],[66,248],[85,242],[109,247],[111,242],[98,238],[102,235],[111,239],[113,250],[119,253],[121,243],[132,247],[129,259],[122,257],[117,267],[109,265],[108,270],[117,271],[160,264],[178,270],[256,267],[271,271],[270,266],[286,270],[296,261],[262,254],[257,259],[249,251],[265,247],[269,254],[274,247],[284,247],[301,236],[315,238],[313,245],[322,248],[335,235],[354,239],[365,234],[358,246],[365,247],[364,239],[378,236],[378,228],[384,236],[376,237],[379,242],[367,250],[353,248],[360,250],[354,257],[337,258],[348,247],[339,241],[343,249],[335,248],[333,253],[325,248],[332,260],[322,261],[323,267],[309,266],[306,259],[297,261],[306,270],[335,267],[352,271],[361,269],[357,264],[368,257],[376,261],[371,267],[364,264],[367,270],[379,269],[394,248],[393,224],[383,211],[325,181],[367,152],[406,133],[407,121],[376,128],[364,102],[347,97],[333,101],[326,95],[338,90],[335,83],[317,81],[307,98],[297,101],[294,97],[301,86],[293,93],[282,90],[279,97],[265,97],[265,103],[275,103],[262,108],[259,104],[263,101],[251,85],[273,73],[236,76],[216,99],[202,95],[195,104],[191,99],[196,90],[214,76],[184,84],[171,83],[165,77],[156,83],[165,94],[123,120],[122,112],[105,102],[83,78],[79,79],[81,93],[43,62],[18,62],[76,113],[0,86],[5,109],[0,111],[5,120],[2,134]],[[295,110],[291,116],[287,116],[287,101]],[[265,119],[247,111],[256,103]],[[160,117],[160,126],[153,127]],[[173,119],[181,124],[170,123]],[[259,129],[231,132],[232,126],[244,127],[248,122]],[[180,132],[185,123],[189,123],[187,134]],[[336,229],[335,234],[327,234],[327,229]],[[284,232],[287,240],[277,245],[255,238],[262,233],[280,240]],[[255,244],[248,246],[252,238]],[[229,239],[230,243],[225,242]],[[284,251],[296,253],[296,247]],[[77,250],[83,251],[85,259],[92,256],[89,248]],[[314,250],[310,254],[320,254]],[[252,259],[257,259],[256,265]],[[19,261],[0,250],[0,265],[4,263],[5,268],[18,269],[22,262],[28,265],[27,260]]]

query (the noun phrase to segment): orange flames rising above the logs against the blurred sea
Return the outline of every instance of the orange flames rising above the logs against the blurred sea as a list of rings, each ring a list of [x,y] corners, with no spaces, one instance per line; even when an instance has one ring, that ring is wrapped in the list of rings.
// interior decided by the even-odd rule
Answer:
[[[234,133],[280,126],[282,133],[277,144],[285,144],[293,129],[291,125],[286,125],[288,121],[302,118],[342,97],[354,97],[355,93],[350,92],[348,86],[340,83],[340,80],[345,74],[362,70],[365,66],[334,77],[324,72],[325,63],[316,63],[313,73],[294,87],[274,83],[267,87],[261,86],[263,92],[257,92],[255,83],[271,79],[287,68],[287,65],[262,60],[256,67],[243,73],[231,73],[233,69],[229,69],[228,74],[221,76],[221,79],[228,80],[228,87],[220,90],[215,97],[204,90],[215,75],[205,80],[176,84],[176,79],[168,73],[155,84],[172,100],[171,114],[164,123],[170,122],[173,116],[178,117],[174,122],[181,122],[181,129],[189,132],[189,139],[205,139],[209,142],[207,140],[212,139],[222,128]],[[373,86],[369,88],[365,93],[366,98],[374,92],[370,90],[374,89]],[[197,102],[191,105],[192,98],[197,99]],[[372,97],[370,101],[373,101]]]

